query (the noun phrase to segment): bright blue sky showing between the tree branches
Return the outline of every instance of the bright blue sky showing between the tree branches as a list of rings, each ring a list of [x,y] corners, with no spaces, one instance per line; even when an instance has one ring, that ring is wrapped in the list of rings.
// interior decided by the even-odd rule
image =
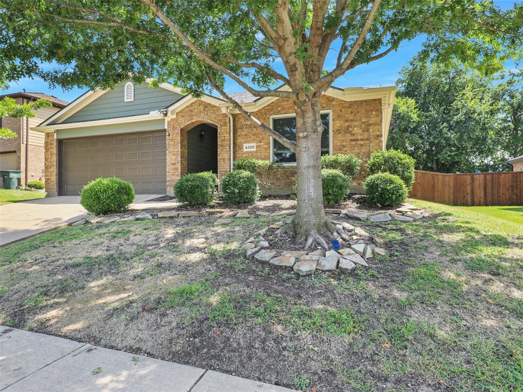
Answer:
[[[511,8],[514,4],[513,0],[501,0],[495,1],[501,8]],[[401,68],[412,60],[412,57],[419,52],[422,47],[424,38],[419,37],[410,42],[405,42],[396,52],[390,53],[378,61],[374,61],[370,64],[362,64],[356,67],[354,70],[347,72],[345,75],[340,76],[334,83],[338,87],[378,87],[378,86],[390,86],[395,84],[398,74]],[[337,52],[332,51],[327,58],[326,67],[334,62],[337,56]],[[511,64],[507,64],[511,66]],[[52,64],[48,66],[52,67]],[[275,64],[275,68],[281,70],[281,66]],[[57,98],[65,101],[72,101],[79,95],[85,92],[85,89],[73,88],[71,90],[63,90],[60,87],[51,89],[49,85],[41,79],[29,79],[24,78],[18,80],[17,83],[11,83],[7,90],[2,90],[1,94],[15,93],[17,91],[35,92],[35,93],[46,93],[53,95]],[[225,84],[225,91],[227,93],[234,93],[241,91],[243,88],[238,86],[233,80],[228,80]]]

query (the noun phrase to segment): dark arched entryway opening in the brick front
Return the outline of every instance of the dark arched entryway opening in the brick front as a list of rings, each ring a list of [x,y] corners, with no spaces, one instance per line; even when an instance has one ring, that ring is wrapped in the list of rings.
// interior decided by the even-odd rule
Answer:
[[[218,174],[218,127],[201,123],[187,130],[187,173]]]

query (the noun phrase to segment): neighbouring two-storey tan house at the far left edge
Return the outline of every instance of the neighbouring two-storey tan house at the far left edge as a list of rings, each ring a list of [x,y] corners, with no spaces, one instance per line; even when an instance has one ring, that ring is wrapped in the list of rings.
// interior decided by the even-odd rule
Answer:
[[[0,99],[11,97],[18,104],[25,104],[43,98],[52,103],[49,108],[38,109],[35,117],[0,117],[0,128],[8,128],[17,133],[15,139],[4,139],[0,143],[0,170],[20,170],[20,184],[44,178],[44,135],[35,131],[43,120],[67,105],[66,101],[42,93],[5,94]]]

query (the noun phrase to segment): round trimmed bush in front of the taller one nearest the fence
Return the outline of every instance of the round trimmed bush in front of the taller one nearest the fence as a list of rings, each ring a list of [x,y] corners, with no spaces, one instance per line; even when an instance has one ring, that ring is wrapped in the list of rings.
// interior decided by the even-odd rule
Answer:
[[[370,203],[395,206],[405,201],[407,187],[399,176],[377,173],[363,181],[363,188]]]

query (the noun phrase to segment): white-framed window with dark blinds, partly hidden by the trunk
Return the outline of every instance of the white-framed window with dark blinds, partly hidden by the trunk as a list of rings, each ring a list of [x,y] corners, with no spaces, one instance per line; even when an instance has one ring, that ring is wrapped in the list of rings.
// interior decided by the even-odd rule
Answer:
[[[322,155],[328,155],[331,152],[331,113],[320,114],[323,123],[322,133]],[[272,129],[278,132],[286,139],[295,142],[296,141],[296,116],[286,117],[272,117]],[[296,154],[294,154],[289,148],[278,142],[276,139],[272,139],[272,162],[281,164],[293,164],[296,163]]]

